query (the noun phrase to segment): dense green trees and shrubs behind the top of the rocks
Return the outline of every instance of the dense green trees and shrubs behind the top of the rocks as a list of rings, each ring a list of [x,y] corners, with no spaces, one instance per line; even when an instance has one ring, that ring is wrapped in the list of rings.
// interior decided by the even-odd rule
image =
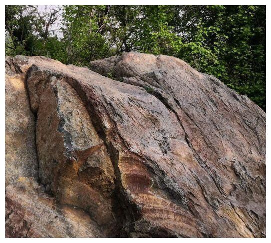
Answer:
[[[5,47],[80,66],[124,51],[172,55],[266,109],[264,5],[6,5]]]

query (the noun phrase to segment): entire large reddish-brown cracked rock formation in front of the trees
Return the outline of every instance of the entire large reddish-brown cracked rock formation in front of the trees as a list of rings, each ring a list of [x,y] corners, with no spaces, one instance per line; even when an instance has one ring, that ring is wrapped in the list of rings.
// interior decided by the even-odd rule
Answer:
[[[263,110],[174,57],[90,67],[6,58],[6,237],[265,237]]]

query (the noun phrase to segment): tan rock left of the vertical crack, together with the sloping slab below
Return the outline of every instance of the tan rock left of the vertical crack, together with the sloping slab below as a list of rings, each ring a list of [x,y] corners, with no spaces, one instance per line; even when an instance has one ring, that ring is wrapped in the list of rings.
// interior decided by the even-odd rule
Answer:
[[[59,204],[38,183],[36,118],[25,83],[33,62],[24,56],[5,59],[5,236],[105,237],[89,214]]]

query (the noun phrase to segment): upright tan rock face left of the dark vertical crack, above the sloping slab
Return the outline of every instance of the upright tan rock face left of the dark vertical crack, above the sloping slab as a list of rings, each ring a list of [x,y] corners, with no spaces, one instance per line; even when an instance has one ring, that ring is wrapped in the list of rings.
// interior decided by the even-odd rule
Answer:
[[[30,111],[25,73],[26,57],[5,62],[5,185],[17,176],[37,179],[35,118]]]

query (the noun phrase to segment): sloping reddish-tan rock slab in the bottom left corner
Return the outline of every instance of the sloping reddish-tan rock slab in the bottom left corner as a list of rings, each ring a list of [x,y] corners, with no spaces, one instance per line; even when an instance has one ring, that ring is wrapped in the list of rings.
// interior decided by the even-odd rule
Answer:
[[[6,237],[74,238],[104,237],[88,214],[57,204],[32,178],[20,177],[6,187]]]

